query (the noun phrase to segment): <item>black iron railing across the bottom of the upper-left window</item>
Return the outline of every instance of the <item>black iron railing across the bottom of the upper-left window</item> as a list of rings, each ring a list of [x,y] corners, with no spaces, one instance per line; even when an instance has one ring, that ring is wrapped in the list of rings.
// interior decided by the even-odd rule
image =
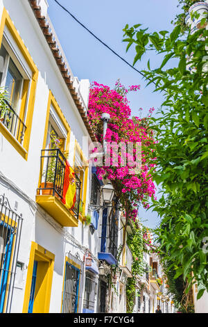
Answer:
[[[3,106],[0,106],[0,122],[10,131],[12,136],[22,144],[24,141],[24,134],[26,131],[26,125],[19,118],[19,115],[12,109],[12,106],[6,99],[3,99]]]

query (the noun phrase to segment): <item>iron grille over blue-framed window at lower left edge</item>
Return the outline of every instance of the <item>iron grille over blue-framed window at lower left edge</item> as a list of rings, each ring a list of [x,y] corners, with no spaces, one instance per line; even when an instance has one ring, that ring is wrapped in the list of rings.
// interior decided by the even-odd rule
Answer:
[[[0,313],[11,310],[21,225],[21,215],[12,211],[5,196],[0,196]]]

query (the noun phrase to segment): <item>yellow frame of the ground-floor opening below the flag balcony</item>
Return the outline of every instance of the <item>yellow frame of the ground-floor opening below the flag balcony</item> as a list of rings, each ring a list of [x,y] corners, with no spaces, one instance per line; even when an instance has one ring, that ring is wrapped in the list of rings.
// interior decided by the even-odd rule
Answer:
[[[28,313],[34,260],[45,263],[46,266],[40,266],[40,269],[42,269],[42,273],[44,273],[44,280],[40,280],[41,271],[37,271],[37,284],[41,286],[39,288],[39,294],[35,294],[36,299],[34,301],[33,310],[36,313],[49,313],[55,255],[35,242],[32,242],[31,244],[31,255],[28,264],[26,287],[24,292],[24,305],[22,312]]]

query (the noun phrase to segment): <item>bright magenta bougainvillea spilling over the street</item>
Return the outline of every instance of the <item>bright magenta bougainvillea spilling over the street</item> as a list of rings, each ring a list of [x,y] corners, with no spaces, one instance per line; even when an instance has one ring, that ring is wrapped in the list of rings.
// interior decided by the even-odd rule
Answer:
[[[94,129],[97,140],[103,143],[102,113],[110,114],[107,125],[105,141],[119,144],[141,143],[141,169],[132,171],[132,163],[136,159],[136,149],[133,147],[132,154],[119,147],[117,149],[117,164],[97,166],[97,174],[100,179],[107,178],[114,186],[116,196],[125,211],[126,219],[135,221],[139,204],[148,207],[148,199],[155,196],[155,185],[151,179],[150,169],[155,167],[153,156],[154,144],[153,131],[148,127],[148,118],[131,118],[131,110],[126,95],[130,91],[139,90],[139,86],[125,88],[120,81],[116,81],[114,89],[96,82],[92,83],[89,94],[88,118]],[[153,109],[150,109],[150,113]],[[108,149],[114,154],[114,150]],[[123,162],[123,155],[126,159]],[[112,160],[112,159],[110,159]],[[112,163],[112,162],[111,162]]]

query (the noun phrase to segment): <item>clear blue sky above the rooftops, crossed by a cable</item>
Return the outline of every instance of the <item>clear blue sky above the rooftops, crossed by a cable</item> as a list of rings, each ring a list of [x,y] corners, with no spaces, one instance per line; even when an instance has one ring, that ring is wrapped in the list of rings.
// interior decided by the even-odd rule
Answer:
[[[76,18],[78,18],[98,38],[112,47],[120,56],[132,64],[135,49],[132,47],[125,52],[126,43],[122,42],[125,24],[129,26],[142,24],[142,28],[149,31],[170,31],[173,29],[171,20],[179,12],[177,0],[58,0]],[[64,53],[74,76],[78,79],[97,81],[114,87],[116,79],[120,79],[125,86],[141,85],[137,93],[130,93],[130,107],[132,115],[139,115],[139,108],[148,114],[150,107],[157,110],[162,104],[160,93],[153,93],[153,86],[146,87],[141,75],[123,63],[110,50],[90,35],[72,17],[62,10],[54,0],[48,0],[49,17],[58,35]],[[138,70],[146,68],[150,58],[151,67],[156,67],[161,58],[154,51],[149,51],[135,67]],[[153,228],[158,223],[157,214],[139,209],[139,216],[146,219],[146,225]]]

